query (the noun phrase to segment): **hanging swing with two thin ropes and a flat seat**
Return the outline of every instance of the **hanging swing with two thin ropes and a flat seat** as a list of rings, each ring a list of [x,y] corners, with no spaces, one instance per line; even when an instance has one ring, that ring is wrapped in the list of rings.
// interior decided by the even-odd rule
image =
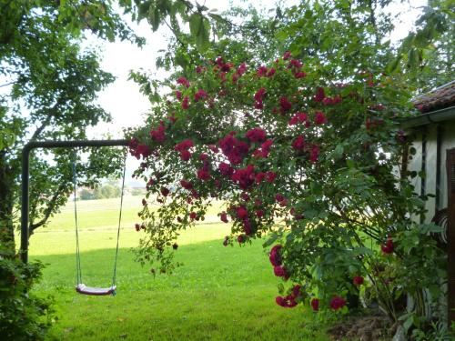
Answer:
[[[76,158],[75,158],[76,159]],[[112,276],[112,285],[108,288],[90,287],[86,286],[82,282],[82,269],[81,269],[81,256],[79,248],[79,232],[77,223],[77,205],[76,205],[76,161],[73,161],[73,186],[74,186],[74,203],[75,203],[75,225],[76,225],[76,291],[79,294],[104,296],[104,295],[116,295],[116,265],[118,259],[118,245],[120,239],[120,226],[122,222],[122,210],[123,210],[123,197],[125,193],[125,175],[126,175],[126,153],[123,162],[123,175],[122,175],[122,190],[120,194],[120,212],[118,215],[118,226],[116,232],[116,257],[114,262],[114,274]]]

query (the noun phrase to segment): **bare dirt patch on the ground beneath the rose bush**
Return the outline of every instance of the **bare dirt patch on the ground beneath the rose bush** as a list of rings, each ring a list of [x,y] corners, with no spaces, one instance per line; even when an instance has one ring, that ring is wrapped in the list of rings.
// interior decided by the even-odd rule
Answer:
[[[386,316],[351,316],[342,325],[329,329],[329,336],[334,341],[347,337],[359,341],[390,340],[396,326],[390,325]]]

